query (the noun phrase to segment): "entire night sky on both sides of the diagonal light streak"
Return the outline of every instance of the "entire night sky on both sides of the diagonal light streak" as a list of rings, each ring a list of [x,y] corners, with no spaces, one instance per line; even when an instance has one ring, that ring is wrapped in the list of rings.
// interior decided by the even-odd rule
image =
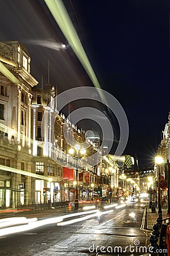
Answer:
[[[15,2],[15,3],[14,3]],[[130,133],[126,154],[139,167],[152,165],[170,110],[170,2],[64,0],[102,89],[126,112]],[[42,0],[0,0],[1,41],[19,40],[31,55],[31,73],[59,92],[92,85],[68,47],[67,53],[38,45],[66,40]],[[72,77],[72,79],[71,79]],[[91,83],[91,84],[90,84]]]

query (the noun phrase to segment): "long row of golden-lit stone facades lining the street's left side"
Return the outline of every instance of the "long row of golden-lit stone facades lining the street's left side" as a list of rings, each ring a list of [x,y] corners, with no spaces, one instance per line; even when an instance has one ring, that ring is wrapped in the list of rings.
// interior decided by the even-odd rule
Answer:
[[[0,208],[74,200],[77,173],[79,199],[94,197],[98,189],[102,194],[109,176],[103,172],[99,138],[90,141],[57,111],[55,87],[38,88],[30,63],[22,44],[0,42]],[[84,156],[69,154],[64,127],[73,141],[86,142]],[[87,158],[94,153],[101,160],[95,165]],[[64,178],[64,168],[72,170],[71,180]]]

